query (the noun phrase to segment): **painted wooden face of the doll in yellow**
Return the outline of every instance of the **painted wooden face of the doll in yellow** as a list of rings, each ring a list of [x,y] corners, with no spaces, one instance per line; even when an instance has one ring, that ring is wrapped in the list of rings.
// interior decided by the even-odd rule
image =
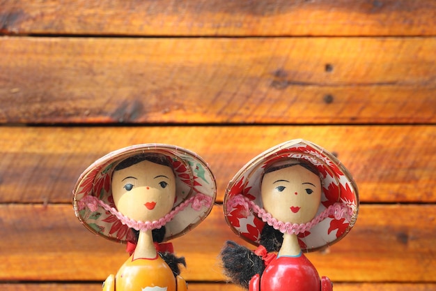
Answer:
[[[171,167],[141,161],[112,177],[112,196],[118,211],[135,221],[155,221],[168,214],[176,197]]]

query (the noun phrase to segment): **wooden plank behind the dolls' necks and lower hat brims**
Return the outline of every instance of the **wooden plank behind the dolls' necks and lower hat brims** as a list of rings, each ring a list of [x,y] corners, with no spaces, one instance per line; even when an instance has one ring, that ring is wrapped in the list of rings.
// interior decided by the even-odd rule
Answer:
[[[347,237],[307,256],[332,281],[435,283],[435,215],[435,204],[364,204]],[[88,232],[71,205],[0,204],[0,217],[0,281],[103,281],[127,260],[124,246]],[[227,239],[242,243],[215,205],[173,240],[187,260],[182,276],[224,280],[217,256]]]

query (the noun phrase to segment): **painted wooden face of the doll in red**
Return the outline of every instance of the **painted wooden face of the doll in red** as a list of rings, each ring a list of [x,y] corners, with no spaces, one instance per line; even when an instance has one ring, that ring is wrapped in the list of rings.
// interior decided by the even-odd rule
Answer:
[[[263,207],[278,221],[307,223],[318,211],[320,178],[302,165],[291,165],[263,176]]]

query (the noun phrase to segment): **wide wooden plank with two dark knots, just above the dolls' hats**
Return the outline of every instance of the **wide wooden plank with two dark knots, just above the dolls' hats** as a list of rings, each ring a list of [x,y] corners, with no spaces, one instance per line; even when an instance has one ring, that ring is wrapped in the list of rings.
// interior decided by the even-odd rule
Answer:
[[[436,38],[0,38],[0,124],[435,124]]]

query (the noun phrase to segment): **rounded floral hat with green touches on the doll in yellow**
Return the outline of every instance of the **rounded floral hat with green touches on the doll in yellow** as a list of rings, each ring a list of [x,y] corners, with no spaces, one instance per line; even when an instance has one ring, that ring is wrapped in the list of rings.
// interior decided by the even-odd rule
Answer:
[[[180,204],[187,204],[188,200],[192,201],[196,195],[202,197],[201,203],[196,207],[183,208],[165,224],[164,241],[189,232],[208,216],[217,195],[215,177],[208,164],[194,152],[170,144],[137,144],[103,156],[90,165],[77,180],[72,191],[72,204],[77,218],[88,230],[113,241],[127,241],[129,227],[100,204],[88,202],[98,198],[104,204],[115,207],[111,193],[114,167],[130,156],[151,153],[163,154],[173,165],[176,177],[176,200],[173,209]]]

